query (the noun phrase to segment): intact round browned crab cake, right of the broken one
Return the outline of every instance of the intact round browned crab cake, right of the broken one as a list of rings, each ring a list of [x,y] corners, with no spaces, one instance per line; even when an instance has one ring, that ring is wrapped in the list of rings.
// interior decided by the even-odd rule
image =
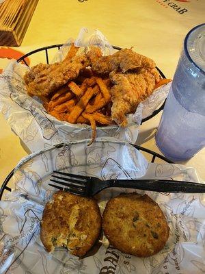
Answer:
[[[113,247],[139,257],[159,252],[169,237],[169,227],[158,204],[148,195],[134,192],[107,203],[102,229]]]

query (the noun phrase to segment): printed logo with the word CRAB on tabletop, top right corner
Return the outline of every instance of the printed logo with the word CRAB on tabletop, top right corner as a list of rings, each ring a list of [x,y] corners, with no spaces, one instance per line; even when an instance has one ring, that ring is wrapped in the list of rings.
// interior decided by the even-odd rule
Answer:
[[[157,3],[159,3],[163,8],[172,8],[178,14],[184,14],[186,12],[189,12],[188,5],[190,2],[197,1],[197,0],[175,0],[180,3],[175,3],[175,1],[172,0],[155,0]],[[185,4],[184,4],[185,3]]]

